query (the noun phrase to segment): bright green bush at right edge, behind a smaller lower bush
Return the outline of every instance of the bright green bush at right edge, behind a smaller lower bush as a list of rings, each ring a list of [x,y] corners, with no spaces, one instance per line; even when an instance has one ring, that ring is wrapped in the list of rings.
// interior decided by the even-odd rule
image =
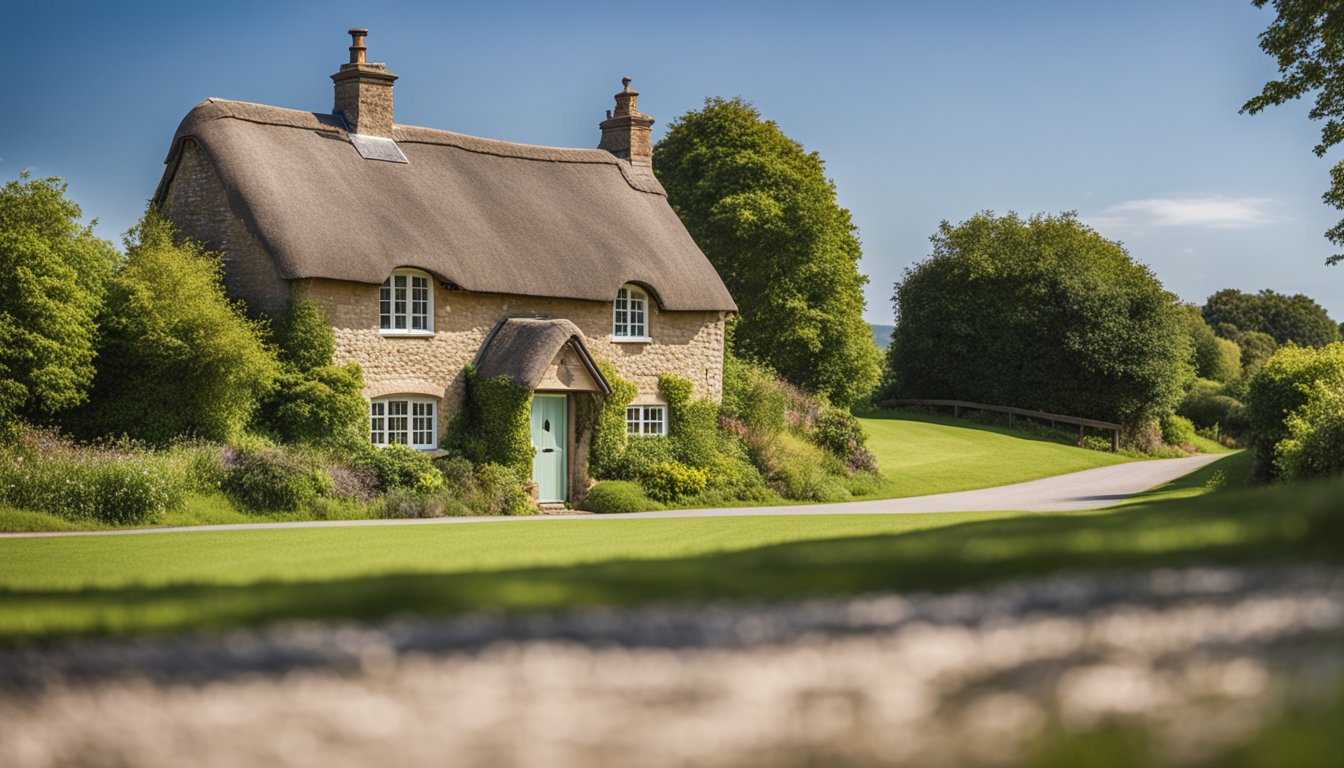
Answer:
[[[1278,473],[1275,448],[1289,437],[1288,420],[1306,405],[1318,386],[1344,387],[1344,343],[1321,348],[1282,347],[1251,377],[1246,408],[1250,414],[1253,473],[1271,479]]]

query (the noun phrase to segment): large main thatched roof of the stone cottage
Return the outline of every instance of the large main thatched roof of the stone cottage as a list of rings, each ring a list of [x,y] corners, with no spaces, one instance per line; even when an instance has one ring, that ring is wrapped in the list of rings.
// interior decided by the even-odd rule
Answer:
[[[331,114],[207,100],[156,199],[192,140],[286,278],[411,266],[487,293],[610,301],[637,282],[664,309],[737,309],[646,167],[409,125],[394,139],[407,163],[366,160]]]

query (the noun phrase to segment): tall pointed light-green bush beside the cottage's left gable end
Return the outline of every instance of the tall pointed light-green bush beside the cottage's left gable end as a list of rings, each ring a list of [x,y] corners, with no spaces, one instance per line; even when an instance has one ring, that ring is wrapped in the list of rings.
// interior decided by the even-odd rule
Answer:
[[[218,256],[173,238],[152,211],[126,238],[99,317],[90,402],[70,414],[85,434],[226,443],[271,389],[278,364],[265,327],[224,293]]]

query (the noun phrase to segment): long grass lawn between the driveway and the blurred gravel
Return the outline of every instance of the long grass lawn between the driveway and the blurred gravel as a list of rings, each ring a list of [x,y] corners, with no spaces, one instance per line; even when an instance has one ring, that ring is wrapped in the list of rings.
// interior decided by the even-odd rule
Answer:
[[[1062,515],[517,521],[0,541],[0,642],[952,589],[1101,568],[1344,561],[1344,484],[1189,495],[1219,469],[1118,511]]]

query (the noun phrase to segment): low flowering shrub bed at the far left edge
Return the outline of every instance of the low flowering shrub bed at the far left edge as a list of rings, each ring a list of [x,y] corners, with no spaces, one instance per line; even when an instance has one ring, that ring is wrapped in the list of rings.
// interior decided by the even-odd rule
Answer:
[[[180,508],[190,490],[181,463],[129,443],[83,447],[28,432],[0,449],[0,502],[24,510],[142,525]]]

